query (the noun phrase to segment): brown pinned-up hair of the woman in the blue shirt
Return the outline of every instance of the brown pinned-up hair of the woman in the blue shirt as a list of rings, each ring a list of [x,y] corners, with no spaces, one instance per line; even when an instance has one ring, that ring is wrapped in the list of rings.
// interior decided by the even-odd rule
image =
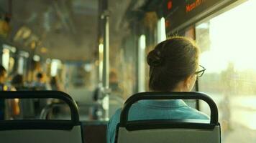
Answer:
[[[172,91],[196,72],[199,49],[187,38],[176,36],[155,46],[147,55],[150,65],[150,90]]]

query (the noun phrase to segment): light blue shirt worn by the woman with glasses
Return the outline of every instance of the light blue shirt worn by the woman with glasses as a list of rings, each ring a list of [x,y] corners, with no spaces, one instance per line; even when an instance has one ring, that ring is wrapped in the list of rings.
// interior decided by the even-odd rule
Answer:
[[[116,125],[119,123],[122,109],[118,109],[109,120],[107,143],[114,143]],[[129,121],[145,119],[209,119],[198,110],[188,107],[183,100],[153,101],[144,100],[133,104],[129,109]]]

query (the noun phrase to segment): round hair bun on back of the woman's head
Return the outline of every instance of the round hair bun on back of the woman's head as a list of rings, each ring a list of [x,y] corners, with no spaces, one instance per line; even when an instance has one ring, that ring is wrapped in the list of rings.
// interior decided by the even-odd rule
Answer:
[[[161,51],[156,49],[150,51],[150,53],[147,55],[147,64],[150,66],[160,66],[163,64],[163,61],[164,58]]]

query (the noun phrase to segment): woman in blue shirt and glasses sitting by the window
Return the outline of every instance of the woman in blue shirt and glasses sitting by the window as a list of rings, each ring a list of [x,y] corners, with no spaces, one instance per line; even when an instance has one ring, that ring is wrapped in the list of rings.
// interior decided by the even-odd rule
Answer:
[[[198,71],[199,49],[190,39],[173,37],[155,46],[147,55],[150,65],[152,92],[191,92]],[[109,120],[107,142],[114,143],[116,125],[119,123],[121,109]],[[188,107],[181,99],[170,101],[140,101],[129,112],[129,120],[145,119],[209,119],[206,114]]]

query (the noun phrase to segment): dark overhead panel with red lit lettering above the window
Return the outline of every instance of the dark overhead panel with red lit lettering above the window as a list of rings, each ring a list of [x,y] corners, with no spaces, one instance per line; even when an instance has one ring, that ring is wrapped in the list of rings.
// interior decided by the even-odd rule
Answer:
[[[168,34],[206,18],[237,0],[165,0],[162,4]]]

